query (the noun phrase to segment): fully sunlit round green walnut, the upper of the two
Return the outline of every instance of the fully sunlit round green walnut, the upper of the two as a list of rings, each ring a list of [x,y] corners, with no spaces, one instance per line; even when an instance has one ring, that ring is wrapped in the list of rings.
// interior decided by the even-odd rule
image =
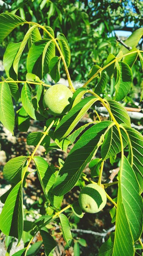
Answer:
[[[63,115],[69,108],[72,96],[66,85],[52,85],[44,94],[43,106],[54,116]]]

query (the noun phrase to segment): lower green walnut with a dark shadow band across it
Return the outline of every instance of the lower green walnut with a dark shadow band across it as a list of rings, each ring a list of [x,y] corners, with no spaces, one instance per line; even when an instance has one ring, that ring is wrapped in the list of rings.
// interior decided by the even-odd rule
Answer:
[[[85,186],[78,198],[80,207],[87,213],[97,213],[106,205],[106,193],[101,186],[97,184],[89,184]]]

